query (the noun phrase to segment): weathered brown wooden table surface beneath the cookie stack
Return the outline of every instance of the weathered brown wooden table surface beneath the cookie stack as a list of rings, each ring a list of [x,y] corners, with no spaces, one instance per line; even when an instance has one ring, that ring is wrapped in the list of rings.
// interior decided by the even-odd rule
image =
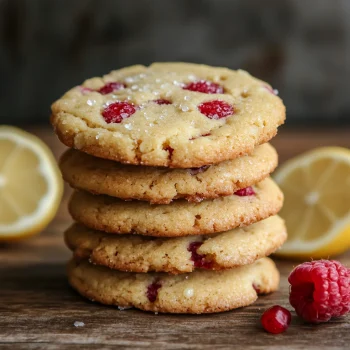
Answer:
[[[62,153],[48,128],[31,129],[55,155]],[[273,140],[280,160],[322,145],[350,147],[350,129],[288,130]],[[0,245],[0,349],[349,349],[350,317],[307,325],[293,312],[287,332],[265,333],[263,310],[288,303],[287,276],[296,264],[277,261],[280,290],[249,307],[213,315],[154,315],[118,311],[88,302],[67,283],[65,263],[70,253],[63,230],[71,222],[66,189],[55,220],[39,236]],[[338,258],[350,266],[350,252]],[[84,322],[75,327],[74,322]]]

